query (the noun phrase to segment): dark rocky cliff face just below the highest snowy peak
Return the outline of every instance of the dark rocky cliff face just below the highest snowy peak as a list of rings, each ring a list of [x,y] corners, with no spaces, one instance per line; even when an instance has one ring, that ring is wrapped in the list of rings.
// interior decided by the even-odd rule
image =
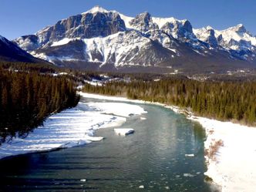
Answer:
[[[73,39],[79,37],[89,39],[98,36],[106,37],[116,32],[124,31],[126,31],[126,26],[117,13],[96,12],[93,14],[88,12],[83,15],[71,16],[69,19],[57,22],[56,25],[42,29],[42,31],[36,33],[34,42],[35,45],[42,46],[48,42],[56,42],[64,38]],[[28,35],[23,36],[22,39],[30,41],[28,39],[32,39],[32,37],[32,35]],[[15,42],[30,50],[19,39],[15,39]]]

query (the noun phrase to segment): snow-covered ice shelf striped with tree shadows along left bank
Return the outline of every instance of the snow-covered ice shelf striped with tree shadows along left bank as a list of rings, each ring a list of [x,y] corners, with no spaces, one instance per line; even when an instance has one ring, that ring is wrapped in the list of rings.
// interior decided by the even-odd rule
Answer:
[[[72,109],[49,116],[24,139],[15,138],[0,147],[0,159],[23,153],[75,147],[102,140],[95,130],[121,126],[132,115],[147,113],[142,107],[126,103],[79,103]]]

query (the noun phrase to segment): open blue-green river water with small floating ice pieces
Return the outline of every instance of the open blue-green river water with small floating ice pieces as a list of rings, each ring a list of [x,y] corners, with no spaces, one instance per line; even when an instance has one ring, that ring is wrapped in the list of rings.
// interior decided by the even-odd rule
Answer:
[[[212,191],[204,129],[170,109],[138,105],[147,119],[123,124],[132,135],[106,128],[96,132],[105,137],[99,142],[0,160],[0,191]]]

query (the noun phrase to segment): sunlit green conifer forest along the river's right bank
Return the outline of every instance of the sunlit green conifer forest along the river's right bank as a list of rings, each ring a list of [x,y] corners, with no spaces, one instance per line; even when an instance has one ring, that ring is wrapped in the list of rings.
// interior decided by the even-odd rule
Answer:
[[[180,106],[198,116],[256,125],[256,81],[200,82],[179,77],[113,82],[104,86],[86,84],[83,91],[165,103]]]

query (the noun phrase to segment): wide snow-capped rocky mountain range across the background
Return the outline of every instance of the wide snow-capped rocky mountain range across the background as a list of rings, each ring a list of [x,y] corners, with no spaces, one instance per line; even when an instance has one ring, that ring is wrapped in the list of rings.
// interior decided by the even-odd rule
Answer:
[[[130,72],[251,68],[256,66],[254,41],[242,27],[193,29],[187,19],[148,12],[133,18],[99,6],[13,40],[57,66]]]

